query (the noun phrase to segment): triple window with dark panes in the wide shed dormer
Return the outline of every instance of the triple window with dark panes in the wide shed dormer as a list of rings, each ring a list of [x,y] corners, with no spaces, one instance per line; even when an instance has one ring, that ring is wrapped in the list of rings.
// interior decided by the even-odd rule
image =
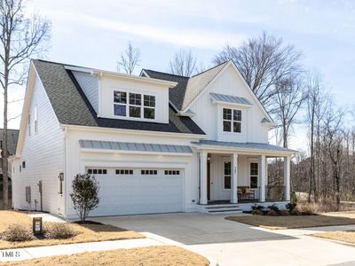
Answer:
[[[127,101],[127,95],[129,100]],[[133,118],[155,118],[155,96],[114,91],[114,115]]]

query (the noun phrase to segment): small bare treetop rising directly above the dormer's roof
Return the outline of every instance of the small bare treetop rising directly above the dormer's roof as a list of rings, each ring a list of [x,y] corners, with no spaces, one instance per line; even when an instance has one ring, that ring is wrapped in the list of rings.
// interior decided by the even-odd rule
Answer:
[[[127,50],[122,52],[121,59],[117,62],[117,68],[120,71],[122,67],[124,73],[132,74],[136,66],[139,66],[139,62],[141,60],[140,50],[138,48],[134,48],[132,43],[129,43]]]

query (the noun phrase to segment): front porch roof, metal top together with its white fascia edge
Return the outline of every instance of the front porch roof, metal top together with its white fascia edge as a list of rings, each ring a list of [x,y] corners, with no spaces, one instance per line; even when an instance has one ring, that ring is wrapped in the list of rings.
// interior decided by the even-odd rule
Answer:
[[[193,145],[201,149],[213,149],[213,150],[237,150],[242,152],[264,152],[264,153],[280,153],[280,154],[293,154],[297,151],[281,147],[278,145],[270,145],[264,143],[239,143],[239,142],[224,142],[217,140],[202,139],[199,142],[193,142]]]

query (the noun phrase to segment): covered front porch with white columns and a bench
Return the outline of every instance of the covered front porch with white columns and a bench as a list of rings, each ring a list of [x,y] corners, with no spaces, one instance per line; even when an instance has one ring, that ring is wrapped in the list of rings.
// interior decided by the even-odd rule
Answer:
[[[255,203],[267,203],[267,206],[289,201],[290,159],[295,151],[257,145],[258,149],[221,146],[220,142],[218,145],[199,145],[200,205],[248,204],[250,208]],[[280,157],[283,184],[269,184],[268,160]]]

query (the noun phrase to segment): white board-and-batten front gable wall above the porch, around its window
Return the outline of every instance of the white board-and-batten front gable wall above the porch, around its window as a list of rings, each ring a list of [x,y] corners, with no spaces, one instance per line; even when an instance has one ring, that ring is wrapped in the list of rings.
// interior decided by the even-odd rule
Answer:
[[[206,90],[201,92],[201,95],[193,102],[190,109],[195,113],[193,121],[207,134],[207,139],[242,143],[268,142],[268,129],[261,123],[265,114],[248,90],[233,69],[233,66],[230,65],[209,84]],[[228,103],[214,104],[210,96],[211,92],[246,98],[252,103],[252,106],[237,107]],[[222,116],[224,107],[241,110],[241,133],[223,132]],[[209,119],[206,119],[207,117]]]

